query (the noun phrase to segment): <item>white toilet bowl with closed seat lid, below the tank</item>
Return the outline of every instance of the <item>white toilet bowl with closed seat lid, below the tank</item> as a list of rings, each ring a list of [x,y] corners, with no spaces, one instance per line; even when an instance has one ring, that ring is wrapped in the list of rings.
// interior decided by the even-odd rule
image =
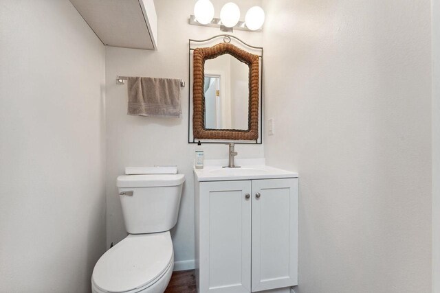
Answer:
[[[98,260],[92,285],[98,292],[141,292],[164,277],[173,264],[169,231],[129,235]]]

